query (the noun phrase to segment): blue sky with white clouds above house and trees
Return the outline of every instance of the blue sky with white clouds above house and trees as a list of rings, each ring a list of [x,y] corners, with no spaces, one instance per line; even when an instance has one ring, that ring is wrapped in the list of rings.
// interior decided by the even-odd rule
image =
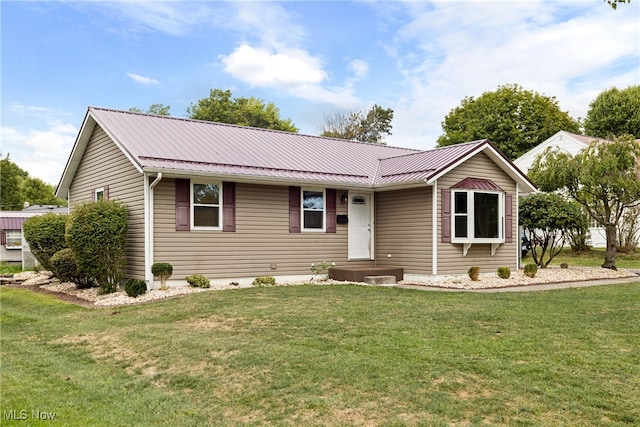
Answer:
[[[2,155],[57,184],[88,106],[185,116],[213,88],[274,102],[302,133],[395,112],[428,149],[466,96],[517,83],[572,117],[640,84],[640,1],[0,3]]]

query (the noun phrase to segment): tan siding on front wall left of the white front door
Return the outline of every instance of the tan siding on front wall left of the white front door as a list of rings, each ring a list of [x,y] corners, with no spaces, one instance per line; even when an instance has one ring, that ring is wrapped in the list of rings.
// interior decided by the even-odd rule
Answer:
[[[212,279],[311,277],[311,263],[347,265],[347,225],[339,224],[335,234],[289,233],[288,186],[237,184],[235,232],[176,231],[175,181],[163,179],[154,191],[153,262],[171,263],[175,280],[194,273]],[[339,200],[341,193],[338,212],[346,211]]]

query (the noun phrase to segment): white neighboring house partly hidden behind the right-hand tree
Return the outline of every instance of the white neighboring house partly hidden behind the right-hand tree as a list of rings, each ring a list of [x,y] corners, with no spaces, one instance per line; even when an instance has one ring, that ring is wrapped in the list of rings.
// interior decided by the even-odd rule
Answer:
[[[528,174],[533,162],[539,155],[544,153],[547,148],[559,148],[560,150],[575,156],[580,151],[588,147],[591,142],[597,140],[600,140],[600,138],[578,135],[561,130],[546,141],[536,145],[531,150],[518,157],[513,161],[513,163],[518,167],[518,169]],[[591,234],[591,246],[595,248],[604,248],[607,245],[607,237],[604,228],[598,226],[595,221],[591,221],[589,233]]]

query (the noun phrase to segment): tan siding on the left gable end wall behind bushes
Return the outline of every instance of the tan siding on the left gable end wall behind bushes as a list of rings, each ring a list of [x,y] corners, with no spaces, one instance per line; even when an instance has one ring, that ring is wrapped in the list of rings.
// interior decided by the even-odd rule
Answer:
[[[109,200],[129,209],[126,277],[144,279],[144,178],[96,125],[69,188],[71,211],[89,202],[95,189],[109,188]]]

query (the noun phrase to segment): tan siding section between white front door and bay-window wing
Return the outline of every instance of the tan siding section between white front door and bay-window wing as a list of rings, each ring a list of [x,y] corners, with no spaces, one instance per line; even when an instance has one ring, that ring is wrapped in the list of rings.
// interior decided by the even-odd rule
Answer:
[[[405,274],[431,274],[431,192],[425,186],[375,195],[377,265],[402,267]]]

